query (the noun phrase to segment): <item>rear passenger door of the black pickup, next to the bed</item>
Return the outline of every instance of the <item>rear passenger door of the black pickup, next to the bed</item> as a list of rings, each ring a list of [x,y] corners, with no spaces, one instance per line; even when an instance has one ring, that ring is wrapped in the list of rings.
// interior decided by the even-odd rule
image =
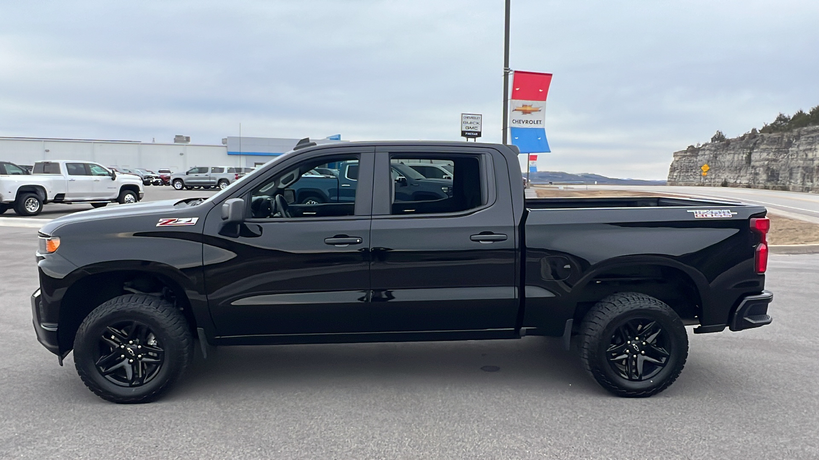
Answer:
[[[494,174],[506,169],[504,157],[478,147],[376,152],[370,280],[382,327],[511,335],[517,235],[509,180]],[[437,194],[391,174],[396,164],[423,160],[454,167],[453,180],[440,181]]]

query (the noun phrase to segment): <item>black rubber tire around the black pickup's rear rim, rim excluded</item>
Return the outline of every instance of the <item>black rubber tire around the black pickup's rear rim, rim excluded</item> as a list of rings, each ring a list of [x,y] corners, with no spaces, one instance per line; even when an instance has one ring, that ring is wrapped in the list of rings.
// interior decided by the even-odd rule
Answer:
[[[635,319],[658,322],[663,340],[669,344],[665,367],[653,378],[628,380],[609,364],[609,346],[622,324]],[[686,327],[674,310],[650,295],[620,292],[609,295],[592,307],[580,327],[580,357],[591,376],[614,395],[645,398],[665,390],[680,376],[688,357]]]

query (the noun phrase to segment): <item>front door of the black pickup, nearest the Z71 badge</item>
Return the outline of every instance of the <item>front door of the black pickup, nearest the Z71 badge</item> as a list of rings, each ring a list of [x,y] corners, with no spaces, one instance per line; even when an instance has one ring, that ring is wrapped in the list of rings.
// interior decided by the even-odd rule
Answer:
[[[246,183],[226,197],[240,197],[247,204],[238,235],[225,232],[219,206],[210,211],[205,284],[219,336],[288,341],[304,334],[373,329],[367,311],[371,150],[306,152]],[[311,169],[334,161],[359,163],[364,175],[369,174],[369,180],[357,181],[354,199],[296,201],[293,190],[299,181],[314,180]]]

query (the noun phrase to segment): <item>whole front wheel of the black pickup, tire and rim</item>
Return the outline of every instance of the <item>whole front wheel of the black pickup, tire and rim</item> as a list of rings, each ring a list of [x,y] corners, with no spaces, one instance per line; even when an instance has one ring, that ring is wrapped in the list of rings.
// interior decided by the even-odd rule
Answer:
[[[94,309],[77,330],[74,362],[94,394],[112,403],[147,403],[179,380],[193,338],[179,309],[147,294],[120,295]]]

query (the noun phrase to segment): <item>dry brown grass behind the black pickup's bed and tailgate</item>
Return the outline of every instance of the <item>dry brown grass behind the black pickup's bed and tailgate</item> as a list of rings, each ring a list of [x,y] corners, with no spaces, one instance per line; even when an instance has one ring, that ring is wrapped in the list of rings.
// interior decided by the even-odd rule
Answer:
[[[602,197],[602,196],[672,196],[663,193],[629,192],[627,190],[582,190],[557,187],[534,187],[538,198],[553,197]],[[819,244],[819,225],[781,215],[768,214],[771,219],[771,232],[768,242],[771,245],[810,245]]]

